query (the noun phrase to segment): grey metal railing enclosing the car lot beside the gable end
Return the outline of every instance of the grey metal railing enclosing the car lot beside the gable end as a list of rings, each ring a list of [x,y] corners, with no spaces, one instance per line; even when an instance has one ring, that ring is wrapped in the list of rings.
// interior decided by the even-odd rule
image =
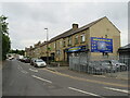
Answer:
[[[113,61],[113,62],[112,62]],[[130,58],[69,57],[69,70],[89,74],[107,74],[130,71]]]

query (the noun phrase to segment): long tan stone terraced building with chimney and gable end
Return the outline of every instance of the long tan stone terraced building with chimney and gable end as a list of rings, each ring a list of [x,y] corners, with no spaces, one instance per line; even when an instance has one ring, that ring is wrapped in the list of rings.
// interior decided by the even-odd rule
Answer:
[[[112,40],[112,51],[100,52],[92,51],[91,38],[98,40]],[[105,42],[104,42],[105,44]],[[47,47],[48,45],[48,47]],[[106,47],[107,47],[106,42]],[[99,19],[82,27],[78,24],[73,24],[73,27],[61,35],[50,39],[48,42],[37,44],[26,48],[25,52],[30,58],[47,58],[50,57],[53,61],[68,61],[69,56],[77,56],[79,52],[84,52],[87,57],[94,59],[95,57],[118,57],[118,48],[120,47],[120,32],[106,17]]]

